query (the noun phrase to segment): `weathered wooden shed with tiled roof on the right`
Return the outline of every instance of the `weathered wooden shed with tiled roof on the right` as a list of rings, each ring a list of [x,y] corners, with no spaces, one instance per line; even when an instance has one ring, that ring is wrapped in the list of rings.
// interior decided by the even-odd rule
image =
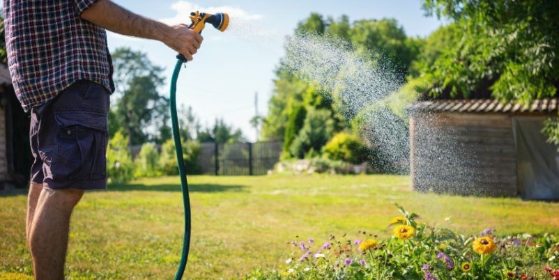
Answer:
[[[422,192],[559,200],[558,146],[542,134],[559,99],[429,100],[410,108],[410,172]]]

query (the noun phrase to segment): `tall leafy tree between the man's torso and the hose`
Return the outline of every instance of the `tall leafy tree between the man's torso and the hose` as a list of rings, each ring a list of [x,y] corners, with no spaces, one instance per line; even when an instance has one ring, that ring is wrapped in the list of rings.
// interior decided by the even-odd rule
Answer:
[[[163,143],[171,133],[167,99],[158,93],[164,81],[162,68],[153,65],[146,54],[128,48],[116,49],[112,59],[118,100],[110,126],[121,126],[132,145]],[[149,132],[150,128],[158,130]]]

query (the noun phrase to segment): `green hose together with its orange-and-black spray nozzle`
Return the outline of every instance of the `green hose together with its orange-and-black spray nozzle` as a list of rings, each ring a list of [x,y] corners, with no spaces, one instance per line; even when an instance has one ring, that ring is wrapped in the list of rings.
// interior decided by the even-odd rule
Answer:
[[[190,13],[190,20],[192,23],[188,28],[202,33],[206,23],[213,25],[219,31],[225,31],[229,26],[229,15],[226,13],[208,14],[208,13]],[[171,109],[171,123],[173,129],[173,139],[175,141],[176,161],[178,164],[178,174],[181,176],[181,190],[183,192],[183,206],[185,210],[185,234],[183,240],[183,254],[181,256],[181,263],[175,275],[175,280],[182,279],[188,259],[188,252],[190,251],[190,196],[188,193],[188,182],[186,180],[185,162],[183,160],[183,146],[181,144],[181,134],[178,130],[178,116],[176,114],[176,81],[178,73],[181,72],[181,66],[187,60],[182,54],[176,56],[177,61],[173,76],[171,77],[171,92],[169,94],[169,107]]]

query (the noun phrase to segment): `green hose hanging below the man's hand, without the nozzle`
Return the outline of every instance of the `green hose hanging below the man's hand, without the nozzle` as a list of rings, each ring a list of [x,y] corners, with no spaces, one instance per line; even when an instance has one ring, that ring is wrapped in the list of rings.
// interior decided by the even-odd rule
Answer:
[[[183,278],[186,262],[188,259],[188,251],[190,250],[190,196],[188,194],[188,182],[186,180],[185,162],[183,160],[183,146],[181,144],[181,134],[178,130],[178,116],[176,115],[176,80],[178,73],[181,72],[181,66],[186,61],[178,58],[171,77],[171,93],[169,94],[169,107],[171,109],[171,123],[173,128],[173,139],[175,140],[176,162],[178,163],[178,175],[181,176],[181,189],[183,191],[183,206],[185,210],[185,235],[183,240],[183,254],[181,263],[175,275],[175,280]]]

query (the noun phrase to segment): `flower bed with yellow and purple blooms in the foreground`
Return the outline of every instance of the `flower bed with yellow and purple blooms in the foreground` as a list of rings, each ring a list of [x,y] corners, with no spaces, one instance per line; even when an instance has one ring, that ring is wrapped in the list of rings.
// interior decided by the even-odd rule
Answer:
[[[253,272],[247,279],[559,279],[559,238],[545,234],[498,237],[496,229],[461,235],[419,224],[418,215],[397,205],[393,235],[379,240],[360,231],[359,240],[289,242],[291,257],[280,271]]]

